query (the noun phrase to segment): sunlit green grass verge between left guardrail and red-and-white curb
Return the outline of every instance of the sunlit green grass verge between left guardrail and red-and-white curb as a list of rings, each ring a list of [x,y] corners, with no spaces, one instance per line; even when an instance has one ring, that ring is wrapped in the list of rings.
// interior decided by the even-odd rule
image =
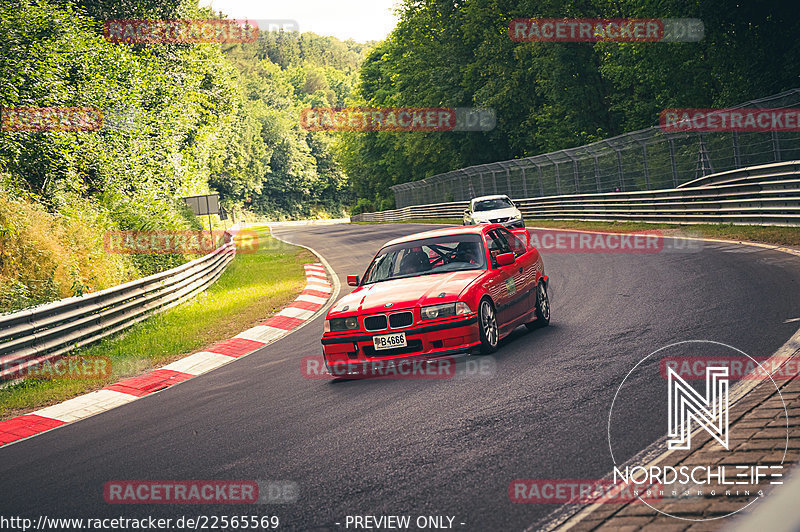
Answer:
[[[142,374],[202,351],[264,321],[305,287],[303,264],[316,257],[303,248],[272,238],[256,227],[255,253],[239,253],[208,290],[157,314],[120,335],[80,349],[78,356],[107,356],[112,371],[105,379],[27,379],[0,389],[0,420]]]

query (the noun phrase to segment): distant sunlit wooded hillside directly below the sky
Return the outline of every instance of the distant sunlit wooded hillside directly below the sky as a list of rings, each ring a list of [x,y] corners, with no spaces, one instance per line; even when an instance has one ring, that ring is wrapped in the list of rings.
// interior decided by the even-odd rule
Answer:
[[[230,209],[284,219],[341,214],[353,201],[332,136],[305,131],[299,121],[304,108],[345,104],[364,50],[296,32],[262,33],[255,43],[226,47],[241,100],[210,183]]]

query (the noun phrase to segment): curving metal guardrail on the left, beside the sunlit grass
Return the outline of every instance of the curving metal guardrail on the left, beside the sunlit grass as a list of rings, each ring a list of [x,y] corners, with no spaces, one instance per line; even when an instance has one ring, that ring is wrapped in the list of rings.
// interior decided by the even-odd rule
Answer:
[[[226,243],[177,268],[79,297],[0,316],[0,378],[126,329],[202,292],[236,254]]]

